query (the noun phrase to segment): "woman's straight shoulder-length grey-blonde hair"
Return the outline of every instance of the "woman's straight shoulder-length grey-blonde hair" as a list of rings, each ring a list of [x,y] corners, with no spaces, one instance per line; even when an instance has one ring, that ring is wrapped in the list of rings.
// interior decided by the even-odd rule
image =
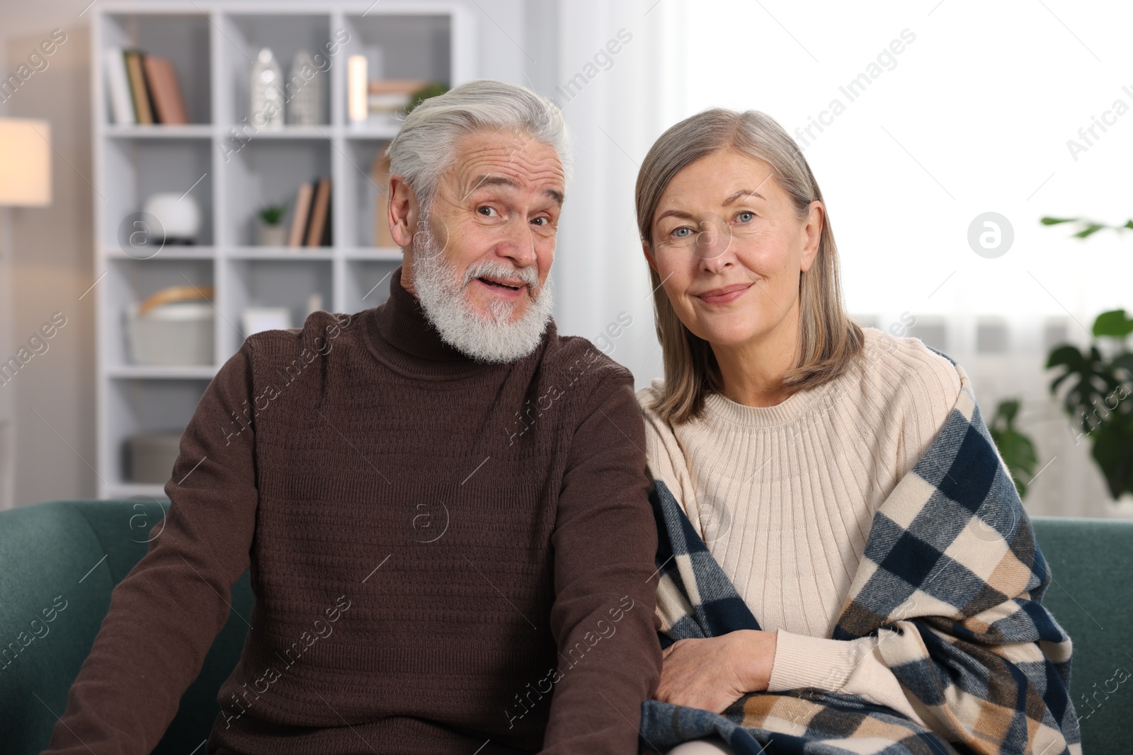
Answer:
[[[755,110],[716,108],[697,113],[661,135],[638,172],[638,231],[654,250],[653,220],[670,181],[684,168],[723,149],[758,157],[773,170],[800,222],[823,192],[798,145],[769,115]],[[783,378],[795,389],[832,380],[861,352],[863,334],[845,314],[838,276],[837,246],[823,201],[818,254],[799,280],[799,359]],[[722,387],[719,366],[709,343],[693,335],[676,316],[657,271],[649,268],[654,316],[665,364],[665,388],[653,410],[670,422],[688,422],[704,411],[704,398]]]

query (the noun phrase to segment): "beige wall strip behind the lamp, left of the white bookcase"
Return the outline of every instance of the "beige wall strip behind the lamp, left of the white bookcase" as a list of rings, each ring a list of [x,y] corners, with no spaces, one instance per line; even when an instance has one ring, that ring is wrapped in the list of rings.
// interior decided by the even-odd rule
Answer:
[[[44,8],[44,10],[50,10]],[[94,325],[92,297],[91,126],[87,29],[75,11],[44,14],[25,35],[6,40],[3,70],[61,27],[67,40],[7,102],[7,115],[51,122],[53,201],[6,212],[9,294],[3,312],[5,359],[61,311],[67,325],[11,379],[12,421],[7,449],[16,474],[12,503],[91,496],[94,472]],[[36,28],[36,24],[39,27]]]

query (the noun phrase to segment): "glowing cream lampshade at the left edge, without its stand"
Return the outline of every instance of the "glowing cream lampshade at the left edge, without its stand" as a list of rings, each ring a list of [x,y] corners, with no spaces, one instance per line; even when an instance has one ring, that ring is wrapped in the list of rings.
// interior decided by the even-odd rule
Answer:
[[[51,204],[51,123],[0,118],[0,205]]]

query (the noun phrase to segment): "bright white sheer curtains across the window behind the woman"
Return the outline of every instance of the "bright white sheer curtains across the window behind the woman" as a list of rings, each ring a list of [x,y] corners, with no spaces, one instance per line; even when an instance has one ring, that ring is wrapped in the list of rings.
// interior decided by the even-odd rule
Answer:
[[[1098,312],[1133,303],[1133,233],[1077,240],[1039,223],[1133,214],[1133,54],[1122,31],[1133,9],[614,5],[557,6],[556,92],[579,154],[555,265],[564,332],[596,340],[624,311],[632,325],[611,355],[639,386],[661,375],[633,221],[638,164],[681,118],[761,110],[795,135],[823,187],[851,312],[957,360],[988,421],[1000,400],[1022,400],[1017,424],[1041,467],[1028,509],[1133,516],[1109,500],[1043,369],[1051,345],[1088,343]],[[623,28],[632,41],[588,77]],[[564,89],[576,74],[585,85]],[[997,249],[980,247],[989,230]]]

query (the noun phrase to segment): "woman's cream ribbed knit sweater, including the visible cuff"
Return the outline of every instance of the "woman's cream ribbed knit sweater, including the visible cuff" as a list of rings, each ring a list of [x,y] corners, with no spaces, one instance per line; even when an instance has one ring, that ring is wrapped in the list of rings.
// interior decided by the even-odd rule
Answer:
[[[860,695],[925,726],[881,660],[884,636],[829,636],[874,513],[944,426],[960,376],[917,338],[863,332],[843,375],[775,406],[714,394],[700,419],[674,427],[649,409],[655,380],[638,392],[646,454],[759,625],[777,633],[770,692]]]

